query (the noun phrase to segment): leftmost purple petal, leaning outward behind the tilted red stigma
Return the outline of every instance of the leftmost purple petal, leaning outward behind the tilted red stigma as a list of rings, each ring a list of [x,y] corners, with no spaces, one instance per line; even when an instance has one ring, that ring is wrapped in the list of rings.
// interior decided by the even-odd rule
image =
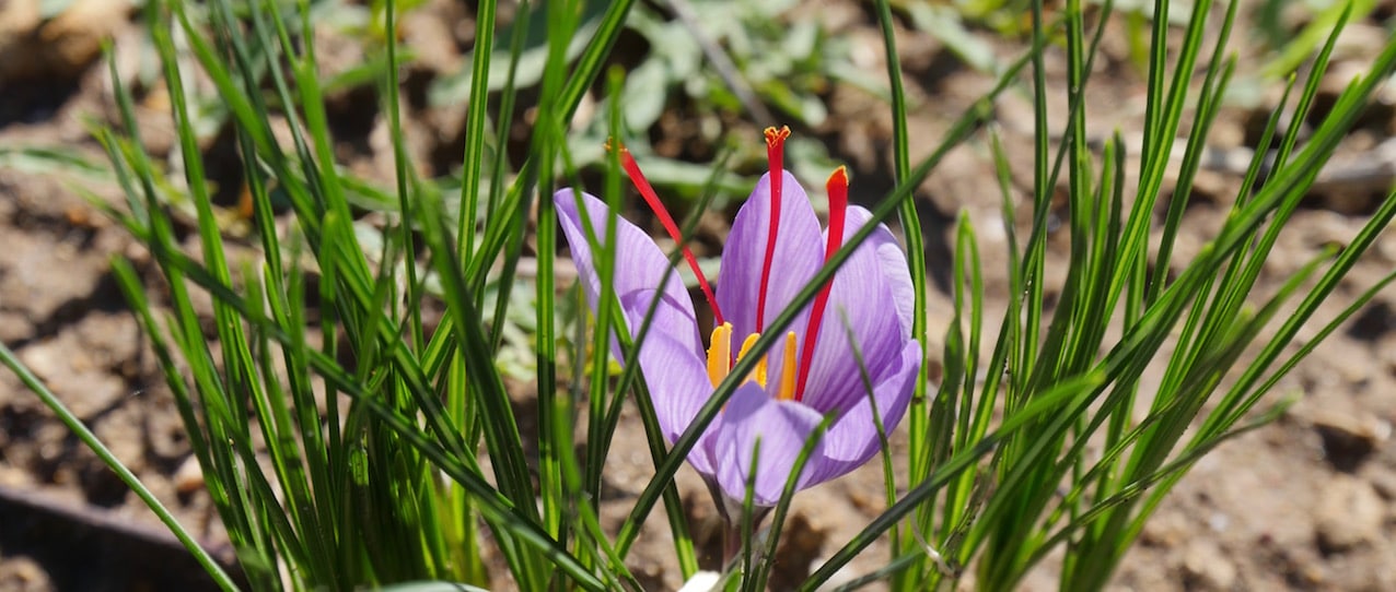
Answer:
[[[588,194],[581,194],[585,217],[597,235],[604,240],[609,210],[606,203]],[[586,293],[586,301],[595,311],[600,293],[600,277],[592,260],[591,244],[582,213],[577,209],[572,189],[553,194],[558,221],[567,242],[572,249],[577,274]],[[649,394],[655,401],[655,412],[664,437],[673,442],[692,421],[694,414],[712,394],[708,380],[706,355],[698,336],[698,320],[692,299],[684,288],[678,273],[670,270],[669,259],[659,251],[655,241],[630,221],[616,219],[616,273],[613,286],[625,325],[635,336],[651,304],[659,297],[649,332],[639,350],[639,366],[645,371]],[[667,281],[666,280],[667,274]],[[663,290],[658,290],[663,284]],[[621,359],[616,350],[617,359]]]

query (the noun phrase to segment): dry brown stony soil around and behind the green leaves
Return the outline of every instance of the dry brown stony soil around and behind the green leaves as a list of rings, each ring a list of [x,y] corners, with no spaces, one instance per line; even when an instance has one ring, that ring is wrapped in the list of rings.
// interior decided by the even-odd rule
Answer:
[[[794,18],[818,18],[838,38],[850,39],[852,60],[864,72],[882,72],[881,42],[866,3],[815,0]],[[1242,22],[1254,6],[1242,3]],[[42,20],[38,1],[0,4],[0,148],[64,146],[101,162],[84,117],[112,118],[110,81],[96,64],[98,42],[114,39],[121,72],[140,65],[142,42],[138,15],[121,0],[78,0],[53,20]],[[406,84],[420,85],[461,67],[470,25],[462,8],[429,1],[409,24],[409,43],[419,50]],[[1378,18],[1393,13],[1383,3],[1372,18],[1357,22],[1340,43],[1325,88],[1340,88],[1371,60],[1386,39]],[[907,25],[909,26],[909,25]],[[1018,54],[1020,43],[972,29],[1000,60]],[[1244,36],[1244,35],[1242,35]],[[1124,32],[1114,26],[1092,78],[1090,132],[1104,138],[1120,130],[1138,134],[1143,117],[1143,81],[1132,65]],[[899,32],[912,111],[913,159],[928,153],[949,123],[986,92],[991,79],[967,67],[924,32]],[[1245,40],[1233,40],[1242,64],[1263,60]],[[328,53],[321,53],[327,54]],[[349,64],[353,47],[338,54]],[[1048,84],[1058,103],[1051,121],[1065,116],[1065,65],[1061,52],[1048,52]],[[1244,68],[1242,68],[1244,70]],[[874,74],[875,75],[875,74]],[[134,77],[134,74],[133,74]],[[417,86],[420,88],[420,86]],[[1255,121],[1273,109],[1275,93],[1259,92],[1249,104],[1228,103],[1212,134],[1212,146],[1226,156],[1254,148]],[[1326,95],[1329,99],[1332,91]],[[888,146],[892,135],[886,103],[864,91],[833,84],[822,95],[829,117],[797,135],[822,139],[833,159],[846,162],[854,195],[875,199],[892,185]],[[362,96],[359,96],[362,99]],[[336,125],[348,130],[339,153],[367,176],[391,171],[385,124],[353,95],[332,98]],[[370,98],[371,102],[371,98]],[[169,150],[169,123],[158,106],[142,107],[142,132],[158,155]],[[1030,189],[1030,103],[1009,92],[997,104],[997,131],[1015,171],[1015,195],[1026,209]],[[1326,245],[1343,244],[1383,199],[1393,180],[1390,156],[1396,134],[1396,89],[1360,123],[1319,188],[1295,215],[1270,258],[1261,294]],[[666,125],[663,121],[669,121]],[[692,130],[662,118],[658,146],[683,146]],[[148,125],[148,127],[144,127]],[[408,121],[409,145],[419,162],[450,170],[459,160],[461,107],[415,109]],[[526,131],[526,128],[524,128]],[[752,124],[732,124],[730,134],[758,138]],[[951,152],[917,194],[927,231],[931,277],[931,345],[938,347],[949,322],[946,234],[966,212],[980,231],[984,265],[1004,267],[1005,235],[1000,189],[980,135]],[[216,155],[216,150],[211,152]],[[454,156],[452,156],[454,155]],[[684,156],[678,153],[676,156]],[[226,156],[225,156],[226,157]],[[1385,159],[1385,160],[1383,160]],[[1346,167],[1346,169],[1344,169]],[[1365,169],[1364,169],[1365,167]],[[1385,167],[1385,169],[1383,169]],[[1365,176],[1353,171],[1367,171]],[[1353,173],[1344,177],[1340,173]],[[236,174],[236,167],[233,173]],[[1356,181],[1353,181],[1356,178]],[[807,180],[808,181],[808,180]],[[230,561],[208,496],[200,489],[170,393],[109,270],[114,254],[147,272],[159,294],[148,256],[121,228],[95,212],[73,189],[74,178],[56,171],[7,167],[0,163],[0,340],[57,393],[112,447],[180,520]],[[1187,260],[1210,238],[1235,195],[1238,171],[1226,164],[1203,171],[1194,205],[1187,210],[1174,260]],[[95,187],[117,203],[112,187]],[[720,241],[723,213],[711,213],[705,228]],[[1050,269],[1060,269],[1067,241],[1054,237]],[[1175,266],[1178,263],[1174,263]],[[1396,238],[1383,238],[1351,273],[1321,319],[1336,315],[1346,301],[1396,265]],[[1055,266],[1055,267],[1054,267]],[[1004,301],[1001,276],[988,279],[994,302]],[[1305,329],[1311,338],[1318,323]],[[991,340],[990,340],[991,343]],[[1300,403],[1277,422],[1230,442],[1203,458],[1177,486],[1125,557],[1113,589],[1396,589],[1396,297],[1382,294],[1356,320],[1335,333],[1275,393]],[[526,387],[518,389],[528,397]],[[1272,398],[1277,400],[1277,398]],[[526,403],[526,401],[525,401]],[[632,410],[628,422],[637,422]],[[635,430],[620,430],[606,471],[609,496],[603,514],[618,522],[639,493],[652,467]],[[905,447],[905,437],[895,446]],[[702,536],[715,521],[697,476],[678,475]],[[814,488],[796,499],[785,535],[776,588],[799,581],[810,561],[835,552],[882,508],[878,467]],[[651,589],[681,582],[666,554],[667,528],[651,521],[631,566]],[[201,589],[207,577],[170,546],[148,508],[112,475],[8,372],[0,372],[0,591]],[[856,577],[886,561],[879,542],[840,577]],[[503,585],[507,585],[501,582]],[[965,582],[972,588],[972,582]],[[1041,566],[1025,589],[1055,588],[1053,566]]]

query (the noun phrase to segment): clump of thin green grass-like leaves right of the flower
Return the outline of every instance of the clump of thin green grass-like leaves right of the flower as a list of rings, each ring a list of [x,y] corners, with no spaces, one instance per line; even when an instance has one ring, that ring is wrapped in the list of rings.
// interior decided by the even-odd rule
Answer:
[[[1104,8],[1108,11],[1110,3]],[[1138,189],[1125,195],[1125,146],[1120,137],[1096,157],[1085,135],[1089,114],[1082,98],[1090,92],[1087,72],[1104,21],[1087,29],[1082,4],[1068,1],[1061,20],[1051,25],[1034,6],[1034,43],[1040,46],[1058,33],[1067,39],[1072,88],[1067,132],[1060,145],[1050,145],[1041,57],[1034,53],[1039,110],[1033,226],[1022,244],[1012,226],[1005,226],[1013,255],[1007,270],[1009,306],[997,336],[986,334],[983,325],[984,272],[974,231],[967,220],[959,226],[956,315],[946,336],[945,380],[927,400],[921,429],[913,423],[910,432],[912,482],[921,485],[888,513],[909,518],[917,535],[903,538],[902,557],[912,567],[896,575],[900,589],[923,589],[927,581],[953,578],[966,567],[976,570],[976,585],[984,589],[1012,589],[1055,549],[1067,552],[1062,589],[1103,588],[1159,501],[1202,454],[1279,416],[1293,403],[1280,401],[1252,416],[1270,387],[1315,347],[1308,341],[1289,352],[1298,327],[1311,320],[1316,305],[1396,213],[1396,195],[1388,196],[1340,252],[1311,260],[1275,293],[1255,294],[1261,266],[1298,201],[1351,128],[1365,98],[1396,65],[1393,43],[1383,47],[1369,74],[1353,81],[1339,109],[1308,142],[1300,145],[1298,123],[1280,130],[1282,111],[1275,113],[1261,143],[1279,138],[1279,150],[1269,155],[1273,162],[1256,155],[1215,240],[1192,260],[1177,262],[1182,270],[1170,277],[1166,270],[1175,263],[1174,242],[1191,181],[1235,67],[1223,47],[1237,3],[1226,6],[1210,49],[1203,39],[1212,3],[1194,4],[1181,47],[1166,42],[1168,8],[1170,3],[1154,4],[1149,113],[1139,146],[1143,167]],[[1311,109],[1342,22],[1346,14],[1329,31],[1328,45],[1298,86],[1295,100],[1284,103],[1289,113]],[[1177,56],[1173,61],[1170,52]],[[1209,52],[1210,59],[1199,68],[1196,61]],[[1191,84],[1195,68],[1203,74],[1201,88]],[[1192,123],[1184,128],[1182,113],[1189,104]],[[1180,180],[1161,227],[1153,230],[1164,167],[1184,137]],[[1013,220],[1002,157],[998,166],[1005,180],[1005,220]],[[1048,311],[1043,306],[1046,216],[1060,176],[1069,187],[1071,249],[1060,299]],[[1148,245],[1154,240],[1160,241],[1157,255],[1149,256]],[[1375,281],[1319,334],[1335,330],[1390,280]],[[1120,327],[1118,338],[1106,337],[1111,326]],[[974,352],[986,337],[995,341],[981,371]],[[1174,352],[1161,358],[1164,344]],[[1163,382],[1145,393],[1141,377],[1150,366],[1161,369]],[[987,377],[983,383],[976,380],[980,373]],[[1039,405],[1051,411],[1007,432],[1020,412]],[[1143,405],[1148,412],[1136,421]],[[1000,411],[1005,419],[994,429],[993,415]],[[913,421],[920,416],[913,410]],[[1196,429],[1188,433],[1189,426]],[[987,464],[949,472],[960,454],[990,443]],[[1089,457],[1087,444],[1103,444],[1104,451],[1099,458]],[[920,554],[923,540],[937,550],[937,561]]]

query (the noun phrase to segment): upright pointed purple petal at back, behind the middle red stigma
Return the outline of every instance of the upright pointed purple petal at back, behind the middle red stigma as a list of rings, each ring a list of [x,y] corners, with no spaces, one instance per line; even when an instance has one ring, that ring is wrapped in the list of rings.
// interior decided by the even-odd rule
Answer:
[[[765,320],[775,319],[824,265],[824,238],[819,219],[810,206],[804,188],[789,171],[782,171],[780,228],[771,262],[766,288]],[[771,174],[761,177],[747,203],[737,212],[732,233],[722,251],[718,276],[718,306],[732,323],[733,341],[740,343],[757,330],[757,302],[761,294],[761,270],[765,265],[766,238],[771,233]],[[803,332],[808,306],[787,330]],[[779,347],[772,348],[772,368],[779,364]]]

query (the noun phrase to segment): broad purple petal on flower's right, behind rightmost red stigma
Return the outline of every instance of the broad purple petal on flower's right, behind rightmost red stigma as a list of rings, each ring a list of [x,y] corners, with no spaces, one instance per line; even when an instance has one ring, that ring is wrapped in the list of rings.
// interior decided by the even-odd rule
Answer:
[[[866,209],[850,208],[845,238],[868,219]],[[910,274],[905,258],[900,274],[895,273],[895,265],[885,263],[900,252],[891,251],[895,245],[892,234],[879,226],[833,276],[803,394],[803,401],[821,412],[852,408],[866,398],[864,371],[875,383],[900,361],[910,338],[910,308],[903,315],[909,302],[899,301],[896,293],[910,290]],[[889,272],[896,277],[888,277]]]

